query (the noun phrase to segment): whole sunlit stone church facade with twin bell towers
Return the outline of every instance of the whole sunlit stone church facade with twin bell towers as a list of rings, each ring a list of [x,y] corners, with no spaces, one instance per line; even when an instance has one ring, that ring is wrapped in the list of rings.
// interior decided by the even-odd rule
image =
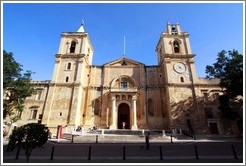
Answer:
[[[195,130],[222,134],[219,80],[198,78],[189,34],[167,24],[157,39],[158,64],[121,57],[93,65],[93,44],[83,25],[64,32],[51,81],[34,82],[18,123],[40,122],[101,129]],[[152,58],[152,57],[150,57]]]

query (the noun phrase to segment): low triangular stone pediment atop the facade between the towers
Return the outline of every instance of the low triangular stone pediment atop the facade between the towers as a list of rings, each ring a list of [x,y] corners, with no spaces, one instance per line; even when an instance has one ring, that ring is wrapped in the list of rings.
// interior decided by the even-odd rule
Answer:
[[[144,64],[137,62],[135,60],[123,57],[123,58],[108,62],[104,64],[104,66],[107,66],[107,67],[140,67],[140,66],[144,66]]]

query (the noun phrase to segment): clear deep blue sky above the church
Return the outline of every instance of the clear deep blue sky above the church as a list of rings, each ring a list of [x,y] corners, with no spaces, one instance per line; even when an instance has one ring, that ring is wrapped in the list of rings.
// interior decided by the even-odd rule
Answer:
[[[51,80],[62,32],[76,32],[84,20],[94,47],[94,65],[126,56],[157,65],[155,48],[166,23],[190,34],[197,75],[221,50],[243,54],[242,3],[3,3],[3,49],[13,52],[34,80]]]

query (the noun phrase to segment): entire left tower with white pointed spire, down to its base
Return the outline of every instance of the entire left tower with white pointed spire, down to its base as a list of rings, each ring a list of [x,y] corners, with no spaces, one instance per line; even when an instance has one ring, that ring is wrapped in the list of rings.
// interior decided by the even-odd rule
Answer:
[[[83,98],[89,83],[93,46],[83,24],[77,32],[61,34],[58,53],[55,55],[53,77],[47,96],[43,123],[50,128],[78,126],[83,120]]]

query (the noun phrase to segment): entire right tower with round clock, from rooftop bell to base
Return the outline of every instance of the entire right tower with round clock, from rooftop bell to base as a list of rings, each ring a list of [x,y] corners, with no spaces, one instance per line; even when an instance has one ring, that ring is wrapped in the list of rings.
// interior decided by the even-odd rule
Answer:
[[[192,130],[190,117],[195,116],[193,111],[198,109],[195,90],[198,79],[189,34],[183,32],[178,23],[167,23],[166,31],[161,33],[156,52],[163,75],[162,93],[165,96],[164,108],[168,112],[169,127]]]

